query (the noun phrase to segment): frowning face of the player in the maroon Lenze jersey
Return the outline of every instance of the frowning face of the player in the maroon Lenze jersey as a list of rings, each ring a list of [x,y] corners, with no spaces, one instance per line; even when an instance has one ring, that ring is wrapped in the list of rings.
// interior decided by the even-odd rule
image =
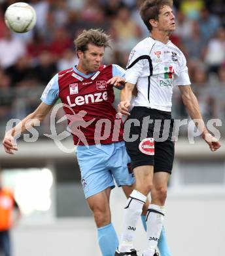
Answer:
[[[88,49],[80,56],[84,70],[93,73],[99,69],[105,53],[104,47],[88,44]]]

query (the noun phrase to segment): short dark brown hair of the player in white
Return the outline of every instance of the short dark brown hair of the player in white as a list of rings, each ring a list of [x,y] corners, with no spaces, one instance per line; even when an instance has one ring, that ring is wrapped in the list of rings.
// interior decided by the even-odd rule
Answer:
[[[152,31],[150,19],[158,20],[160,10],[165,6],[173,7],[173,0],[145,0],[140,7],[140,14],[148,30]]]

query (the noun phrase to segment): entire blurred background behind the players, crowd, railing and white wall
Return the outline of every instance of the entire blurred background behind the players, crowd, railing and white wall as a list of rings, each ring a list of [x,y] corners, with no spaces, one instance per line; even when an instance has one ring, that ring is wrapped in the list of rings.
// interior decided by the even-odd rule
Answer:
[[[126,67],[131,48],[148,32],[135,0],[27,1],[37,12],[35,30],[10,33],[3,14],[16,1],[0,1],[0,137],[7,121],[22,119],[39,104],[50,78],[77,62],[73,39],[83,29],[102,28],[111,34],[112,49],[105,64]],[[225,131],[225,5],[224,1],[175,1],[177,30],[171,40],[185,54],[201,112]],[[118,96],[118,91],[115,91]],[[118,100],[118,98],[117,98]],[[173,117],[188,118],[179,91],[173,96]],[[63,116],[59,112],[57,118]],[[50,134],[49,117],[38,127],[39,140],[18,140],[19,152],[0,150],[0,168],[20,204],[23,218],[12,230],[14,256],[100,255],[94,221],[84,202],[75,154],[62,152]],[[58,133],[66,123],[57,125]],[[190,124],[189,127],[192,127]],[[32,140],[32,138],[31,138]],[[187,126],[176,142],[176,159],[169,182],[165,228],[173,256],[224,255],[225,150],[215,153],[196,138],[187,139]],[[65,148],[73,148],[71,137]],[[112,221],[120,234],[125,198],[112,191]],[[141,224],[141,223],[140,223]],[[142,228],[136,247],[143,246]]]

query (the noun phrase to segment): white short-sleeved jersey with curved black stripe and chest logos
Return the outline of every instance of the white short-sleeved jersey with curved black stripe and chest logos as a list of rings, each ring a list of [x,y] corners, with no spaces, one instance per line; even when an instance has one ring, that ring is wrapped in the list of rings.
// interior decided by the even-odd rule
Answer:
[[[147,37],[130,53],[126,82],[137,84],[133,106],[171,112],[173,86],[190,85],[186,58],[171,41]]]

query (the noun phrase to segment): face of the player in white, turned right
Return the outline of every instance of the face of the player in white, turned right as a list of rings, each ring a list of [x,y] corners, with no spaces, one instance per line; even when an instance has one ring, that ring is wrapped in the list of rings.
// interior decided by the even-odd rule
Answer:
[[[173,32],[176,28],[175,16],[171,7],[165,5],[158,16],[158,30],[162,32]]]

